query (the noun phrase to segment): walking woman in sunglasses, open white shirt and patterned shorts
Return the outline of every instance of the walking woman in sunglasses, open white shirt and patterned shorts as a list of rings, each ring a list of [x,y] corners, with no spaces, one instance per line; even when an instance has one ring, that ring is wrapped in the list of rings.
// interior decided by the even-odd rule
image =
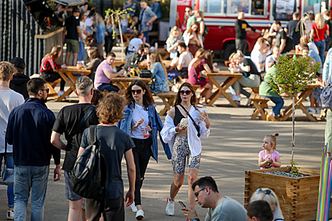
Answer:
[[[177,92],[175,105],[167,114],[164,128],[160,132],[162,140],[170,142],[174,172],[174,182],[170,188],[170,196],[167,198],[167,215],[174,215],[174,198],[184,181],[186,161],[189,165],[188,185],[191,186],[196,181],[201,162],[200,138],[205,139],[210,135],[211,122],[208,114],[201,112],[201,109],[196,106],[196,102],[197,98],[192,85],[183,83]],[[186,121],[187,124],[183,121]],[[189,205],[194,208],[194,191],[191,188],[189,188],[188,197]]]

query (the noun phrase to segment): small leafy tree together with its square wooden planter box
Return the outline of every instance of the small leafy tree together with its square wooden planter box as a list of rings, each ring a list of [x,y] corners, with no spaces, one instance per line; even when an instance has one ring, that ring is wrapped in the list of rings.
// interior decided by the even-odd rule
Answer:
[[[286,91],[292,95],[292,160],[290,167],[273,169],[256,169],[245,172],[244,206],[247,208],[249,199],[262,187],[268,187],[278,196],[280,208],[285,220],[315,220],[319,192],[319,170],[296,167],[294,162],[295,149],[295,96],[307,85],[314,83],[314,73],[319,71],[320,64],[311,62],[308,56],[292,59],[280,56],[275,67],[277,75],[268,82],[273,91]],[[293,172],[309,175],[309,177],[282,177],[264,172]]]

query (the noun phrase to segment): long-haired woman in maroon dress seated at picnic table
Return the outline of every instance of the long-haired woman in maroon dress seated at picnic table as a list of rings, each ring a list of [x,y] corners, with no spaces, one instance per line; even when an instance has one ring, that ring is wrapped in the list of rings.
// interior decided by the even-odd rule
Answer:
[[[206,50],[198,59],[195,61],[190,69],[188,80],[191,85],[201,85],[204,88],[201,92],[201,97],[205,97],[203,105],[208,105],[208,99],[211,96],[213,85],[208,82],[208,78],[201,78],[204,74],[215,71],[212,64],[213,54],[211,50]]]

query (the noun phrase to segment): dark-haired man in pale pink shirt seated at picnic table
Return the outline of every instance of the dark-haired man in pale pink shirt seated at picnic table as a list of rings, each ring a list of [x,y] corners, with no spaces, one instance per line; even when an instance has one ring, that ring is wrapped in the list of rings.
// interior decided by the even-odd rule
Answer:
[[[97,90],[107,90],[108,92],[118,92],[120,95],[122,94],[121,90],[115,85],[112,84],[112,78],[115,78],[124,73],[124,70],[121,70],[117,73],[114,73],[112,64],[115,60],[115,54],[113,52],[109,52],[105,61],[102,61],[100,65],[97,67],[97,71],[95,71],[95,88]]]

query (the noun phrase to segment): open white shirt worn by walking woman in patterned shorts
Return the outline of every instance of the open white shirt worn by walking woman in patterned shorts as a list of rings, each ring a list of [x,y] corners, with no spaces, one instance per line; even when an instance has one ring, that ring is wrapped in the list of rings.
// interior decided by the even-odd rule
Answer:
[[[198,122],[198,125],[201,127],[200,138],[206,139],[210,135],[210,129],[207,129],[205,122],[199,119],[199,112],[201,112],[201,108],[196,107],[196,109],[195,107],[191,106],[189,114],[194,119],[196,124]],[[175,131],[175,127],[176,126],[174,125],[174,120],[172,119],[172,117],[170,117],[170,115],[167,114],[164,127],[162,128],[162,131],[160,131],[160,136],[162,137],[162,141],[164,141],[165,143],[170,143],[171,152],[173,150],[174,139],[177,133],[177,131]],[[196,128],[189,117],[188,117],[187,132],[188,132],[189,149],[191,155],[195,157],[202,152],[202,144],[201,144],[201,139],[198,138],[197,136]]]

